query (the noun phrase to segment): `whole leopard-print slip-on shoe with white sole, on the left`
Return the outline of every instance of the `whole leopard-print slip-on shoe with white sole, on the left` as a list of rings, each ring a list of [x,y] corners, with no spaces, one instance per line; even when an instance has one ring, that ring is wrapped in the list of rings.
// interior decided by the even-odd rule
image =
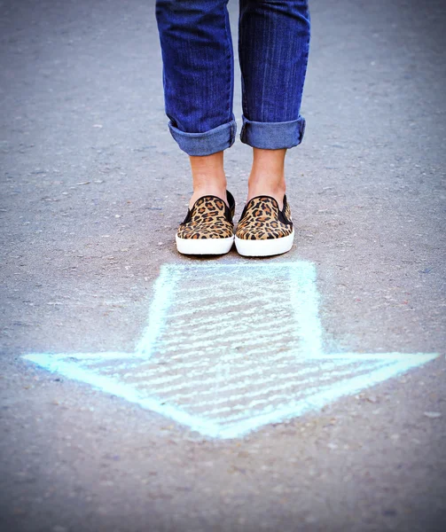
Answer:
[[[224,254],[234,242],[235,201],[226,191],[229,207],[216,196],[202,196],[188,209],[176,232],[176,249],[183,254]]]

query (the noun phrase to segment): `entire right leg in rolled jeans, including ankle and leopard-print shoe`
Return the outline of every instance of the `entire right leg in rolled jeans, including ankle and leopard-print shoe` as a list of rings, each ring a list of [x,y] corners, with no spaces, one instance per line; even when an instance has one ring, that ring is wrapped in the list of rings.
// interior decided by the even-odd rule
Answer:
[[[253,147],[239,254],[266,256],[293,246],[286,201],[286,150],[301,143],[301,96],[309,53],[307,0],[240,0],[241,141]]]

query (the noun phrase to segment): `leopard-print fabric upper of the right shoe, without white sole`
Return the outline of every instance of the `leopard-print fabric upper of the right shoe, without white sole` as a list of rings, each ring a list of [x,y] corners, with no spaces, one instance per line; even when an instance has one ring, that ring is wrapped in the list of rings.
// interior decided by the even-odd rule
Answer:
[[[293,232],[291,209],[284,198],[284,208],[270,196],[257,196],[246,203],[237,226],[236,237],[244,240],[281,239]]]

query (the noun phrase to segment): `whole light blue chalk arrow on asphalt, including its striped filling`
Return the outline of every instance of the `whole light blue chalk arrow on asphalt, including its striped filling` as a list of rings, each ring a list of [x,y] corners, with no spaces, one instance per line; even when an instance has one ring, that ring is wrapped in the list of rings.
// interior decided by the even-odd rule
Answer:
[[[318,411],[434,353],[324,353],[309,262],[164,265],[134,353],[29,354],[215,438]]]

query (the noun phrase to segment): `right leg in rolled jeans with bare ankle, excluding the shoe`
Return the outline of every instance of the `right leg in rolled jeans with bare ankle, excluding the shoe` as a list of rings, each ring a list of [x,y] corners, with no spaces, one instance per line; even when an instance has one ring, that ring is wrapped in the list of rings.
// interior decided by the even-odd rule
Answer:
[[[240,0],[241,140],[254,148],[248,200],[268,194],[282,205],[286,148],[301,143],[300,115],[309,54],[306,0]]]

